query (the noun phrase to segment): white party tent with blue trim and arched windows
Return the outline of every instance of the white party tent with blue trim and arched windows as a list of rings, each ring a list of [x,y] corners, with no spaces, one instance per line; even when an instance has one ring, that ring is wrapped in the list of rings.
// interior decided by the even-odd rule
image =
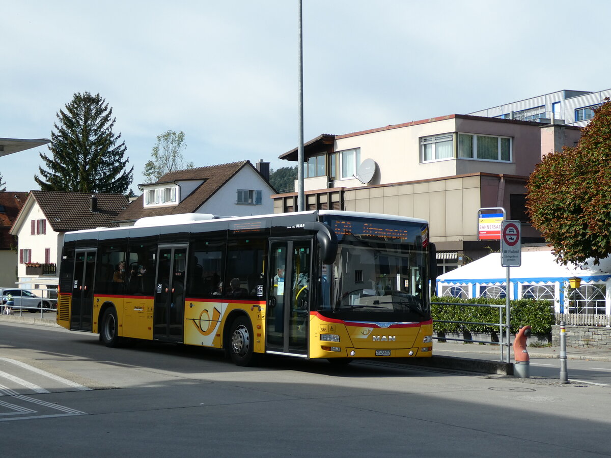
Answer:
[[[505,297],[507,267],[500,264],[500,253],[458,267],[437,277],[437,294],[453,297]],[[569,278],[579,277],[581,286],[569,290]],[[510,267],[510,297],[547,299],[560,313],[610,314],[611,258],[598,266],[590,260],[577,266],[562,266],[551,251],[522,252],[522,265]],[[570,303],[569,303],[570,293]]]

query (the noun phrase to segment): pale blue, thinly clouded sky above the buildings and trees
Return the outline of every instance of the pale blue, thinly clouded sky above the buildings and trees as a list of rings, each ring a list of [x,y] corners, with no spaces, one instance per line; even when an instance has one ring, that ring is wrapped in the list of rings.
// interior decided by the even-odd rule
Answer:
[[[196,167],[296,165],[278,157],[299,142],[298,0],[0,0],[0,15],[0,137],[50,139],[90,92],[137,194],[168,130]],[[303,0],[304,140],[610,89],[610,15],[608,0]],[[40,189],[41,153],[0,158],[7,191]]]

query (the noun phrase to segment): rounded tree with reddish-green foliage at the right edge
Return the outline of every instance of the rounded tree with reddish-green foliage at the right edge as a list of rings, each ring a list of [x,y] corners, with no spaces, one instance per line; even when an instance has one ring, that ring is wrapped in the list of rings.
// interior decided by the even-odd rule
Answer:
[[[611,102],[595,110],[575,147],[544,157],[527,187],[532,224],[558,261],[598,264],[611,253]]]

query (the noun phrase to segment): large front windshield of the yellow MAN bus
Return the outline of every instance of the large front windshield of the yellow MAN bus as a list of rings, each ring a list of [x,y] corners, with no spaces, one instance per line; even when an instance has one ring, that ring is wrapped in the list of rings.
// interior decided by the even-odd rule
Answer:
[[[338,251],[332,266],[323,265],[318,311],[346,321],[431,318],[426,224],[375,219],[330,223],[338,236]]]

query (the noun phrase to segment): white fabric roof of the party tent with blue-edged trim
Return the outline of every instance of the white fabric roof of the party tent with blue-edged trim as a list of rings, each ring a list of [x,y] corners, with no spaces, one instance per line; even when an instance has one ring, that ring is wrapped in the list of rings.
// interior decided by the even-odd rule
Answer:
[[[500,265],[500,253],[491,253],[463,267],[437,277],[438,282],[447,283],[496,283],[505,282],[507,267]],[[611,277],[611,258],[601,260],[598,266],[593,261],[581,266],[558,264],[551,251],[522,252],[522,265],[510,268],[513,282],[555,282],[571,277],[584,281],[606,280]]]

